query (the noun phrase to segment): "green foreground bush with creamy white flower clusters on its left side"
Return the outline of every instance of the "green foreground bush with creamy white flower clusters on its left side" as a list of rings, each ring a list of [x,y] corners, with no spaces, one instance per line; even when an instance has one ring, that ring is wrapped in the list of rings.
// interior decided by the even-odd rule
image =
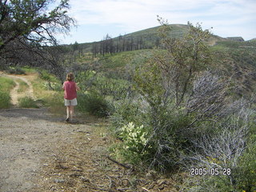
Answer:
[[[155,112],[143,99],[127,99],[115,106],[110,117],[114,126],[112,131],[123,141],[113,150],[117,156],[130,163],[141,162],[145,167],[159,170],[174,168],[179,161],[178,152],[182,146],[188,146],[180,131],[191,121],[186,110],[162,108]]]

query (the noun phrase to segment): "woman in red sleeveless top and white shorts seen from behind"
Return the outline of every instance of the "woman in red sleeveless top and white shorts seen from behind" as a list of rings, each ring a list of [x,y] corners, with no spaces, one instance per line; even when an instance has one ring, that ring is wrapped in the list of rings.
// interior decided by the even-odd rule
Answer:
[[[78,105],[77,90],[80,90],[78,85],[74,82],[74,74],[66,75],[66,82],[63,83],[64,101],[66,106],[66,122],[73,122],[74,106]]]

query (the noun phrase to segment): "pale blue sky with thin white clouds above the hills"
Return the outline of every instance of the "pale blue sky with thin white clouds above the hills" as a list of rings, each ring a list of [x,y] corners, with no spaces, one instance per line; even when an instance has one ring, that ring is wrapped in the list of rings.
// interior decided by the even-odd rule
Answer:
[[[61,44],[98,42],[159,26],[157,15],[169,24],[200,23],[222,38],[256,38],[256,0],[70,0],[70,17],[78,26]]]

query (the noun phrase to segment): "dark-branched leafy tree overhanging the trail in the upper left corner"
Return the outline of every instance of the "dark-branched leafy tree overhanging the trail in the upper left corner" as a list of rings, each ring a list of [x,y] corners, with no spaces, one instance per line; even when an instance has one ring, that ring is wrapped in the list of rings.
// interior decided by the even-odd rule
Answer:
[[[53,4],[54,0],[0,1],[0,58],[40,60],[42,46],[57,45],[55,34],[66,34],[75,22],[67,15],[68,0],[50,10]]]

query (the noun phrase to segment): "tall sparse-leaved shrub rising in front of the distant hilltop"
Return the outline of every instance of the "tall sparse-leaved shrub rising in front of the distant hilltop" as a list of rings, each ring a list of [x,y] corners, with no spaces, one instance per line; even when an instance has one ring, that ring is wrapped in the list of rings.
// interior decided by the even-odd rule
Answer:
[[[159,29],[162,48],[158,51],[154,62],[161,69],[166,90],[173,90],[172,96],[176,105],[180,105],[188,92],[194,74],[210,65],[211,56],[206,41],[210,38],[209,30],[202,26],[193,26],[188,22],[189,30],[183,38],[170,38],[171,27],[168,22],[158,18],[162,24]]]

